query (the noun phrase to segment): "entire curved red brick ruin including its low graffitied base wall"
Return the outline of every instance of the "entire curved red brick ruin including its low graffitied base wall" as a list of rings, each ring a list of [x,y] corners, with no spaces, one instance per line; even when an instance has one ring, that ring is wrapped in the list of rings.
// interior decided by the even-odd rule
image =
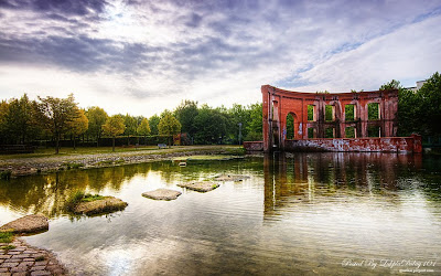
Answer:
[[[396,89],[330,94],[263,85],[261,93],[263,141],[244,144],[247,150],[421,152],[421,137],[396,137]]]

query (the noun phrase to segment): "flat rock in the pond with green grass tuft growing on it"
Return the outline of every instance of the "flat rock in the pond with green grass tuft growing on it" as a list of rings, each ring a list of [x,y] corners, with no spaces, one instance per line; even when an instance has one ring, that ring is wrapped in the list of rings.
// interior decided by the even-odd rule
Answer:
[[[101,200],[80,202],[74,208],[76,214],[99,214],[121,211],[127,206],[127,202],[114,197],[105,197]]]

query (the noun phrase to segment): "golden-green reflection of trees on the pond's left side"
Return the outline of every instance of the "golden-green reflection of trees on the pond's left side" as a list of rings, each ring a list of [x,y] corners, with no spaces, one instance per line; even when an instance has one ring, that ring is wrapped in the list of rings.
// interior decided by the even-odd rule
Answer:
[[[64,204],[71,193],[79,190],[101,191],[121,189],[125,180],[146,173],[150,166],[121,166],[115,168],[60,171],[0,181],[0,204],[21,213],[43,213],[50,217],[65,213]]]

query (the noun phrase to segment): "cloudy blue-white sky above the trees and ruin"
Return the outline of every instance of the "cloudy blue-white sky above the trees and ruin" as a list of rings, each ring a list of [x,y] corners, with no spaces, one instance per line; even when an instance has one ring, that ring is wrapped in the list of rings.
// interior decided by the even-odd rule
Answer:
[[[0,0],[0,99],[150,117],[441,72],[441,0]]]

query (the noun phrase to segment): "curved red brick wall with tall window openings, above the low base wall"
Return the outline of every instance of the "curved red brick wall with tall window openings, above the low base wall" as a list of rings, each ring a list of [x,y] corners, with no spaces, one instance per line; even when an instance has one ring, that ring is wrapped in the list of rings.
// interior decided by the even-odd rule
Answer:
[[[396,89],[319,94],[263,85],[261,93],[265,151],[270,151],[273,147],[286,148],[288,115],[293,117],[295,140],[346,138],[348,132],[353,135],[351,138],[395,137],[397,134]],[[375,114],[374,118],[372,114]],[[369,129],[374,129],[370,135]]]

